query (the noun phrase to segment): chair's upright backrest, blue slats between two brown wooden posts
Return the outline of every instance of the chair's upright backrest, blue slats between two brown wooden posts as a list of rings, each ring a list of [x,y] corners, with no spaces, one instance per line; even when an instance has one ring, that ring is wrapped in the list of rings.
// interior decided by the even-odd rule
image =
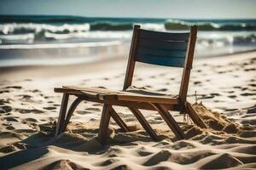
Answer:
[[[191,26],[188,32],[175,33],[148,31],[140,29],[140,26],[134,26],[124,89],[131,86],[136,61],[153,65],[183,67],[179,98],[181,102],[185,102],[196,33],[196,26]]]

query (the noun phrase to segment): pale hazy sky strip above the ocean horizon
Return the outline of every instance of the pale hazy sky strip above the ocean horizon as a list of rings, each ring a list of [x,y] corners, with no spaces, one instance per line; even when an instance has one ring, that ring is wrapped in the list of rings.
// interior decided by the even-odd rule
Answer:
[[[0,14],[256,19],[256,0],[0,0]]]

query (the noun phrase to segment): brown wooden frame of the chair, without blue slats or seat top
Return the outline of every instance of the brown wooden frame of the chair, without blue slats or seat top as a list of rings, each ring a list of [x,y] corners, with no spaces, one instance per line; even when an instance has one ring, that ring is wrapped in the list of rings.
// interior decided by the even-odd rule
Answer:
[[[125,83],[123,90],[131,87],[132,77],[135,69],[136,59],[135,52],[137,48],[137,40],[140,26],[134,26],[133,36],[131,40],[131,49],[125,74]],[[196,33],[197,26],[191,26],[189,33],[189,42],[187,53],[185,57],[185,63],[183,67],[183,76],[181,81],[181,86],[179,90],[179,94],[177,99],[160,99],[160,98],[141,98],[138,96],[119,96],[118,94],[113,98],[113,95],[101,95],[101,94],[91,94],[91,93],[82,93],[78,89],[72,88],[55,88],[56,93],[62,93],[62,102],[60,114],[58,117],[58,122],[55,128],[55,136],[64,132],[67,128],[67,124],[73,115],[73,111],[75,111],[76,107],[83,100],[102,103],[102,117],[98,132],[98,139],[102,144],[105,144],[108,139],[108,125],[110,121],[110,117],[113,118],[114,122],[116,122],[121,128],[122,132],[130,132],[131,129],[125,124],[125,122],[119,117],[119,115],[114,111],[113,105],[125,106],[128,107],[129,110],[133,113],[134,116],[137,117],[138,122],[141,123],[142,127],[149,134],[149,136],[158,140],[159,137],[156,133],[154,133],[153,128],[149,125],[141,111],[139,110],[150,110],[150,111],[158,111],[160,116],[165,120],[168,127],[172,129],[172,132],[175,133],[177,139],[185,139],[186,136],[183,133],[183,130],[177,125],[177,122],[174,120],[169,111],[180,111],[181,114],[187,113],[192,121],[201,128],[206,128],[207,126],[202,122],[200,116],[198,116],[193,109],[192,105],[187,101],[187,93],[189,88],[189,76],[190,70],[192,69],[192,63],[194,58],[194,50],[195,50],[195,41],[196,41]],[[67,103],[70,95],[74,95],[77,97],[70,105],[69,110],[67,111]],[[121,99],[121,97],[123,97]]]

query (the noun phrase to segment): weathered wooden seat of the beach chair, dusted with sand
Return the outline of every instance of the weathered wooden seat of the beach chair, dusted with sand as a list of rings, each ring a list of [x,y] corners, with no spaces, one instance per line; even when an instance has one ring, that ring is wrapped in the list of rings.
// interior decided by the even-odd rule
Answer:
[[[125,91],[114,91],[106,88],[64,86],[55,88],[55,92],[85,95],[100,100],[137,101],[161,104],[178,104],[177,96],[155,93],[147,88],[127,88]]]

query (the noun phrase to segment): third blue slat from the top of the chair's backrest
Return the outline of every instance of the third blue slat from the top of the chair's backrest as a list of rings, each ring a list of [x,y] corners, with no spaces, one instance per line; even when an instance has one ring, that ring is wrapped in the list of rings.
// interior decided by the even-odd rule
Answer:
[[[154,49],[154,48],[145,48],[145,47],[139,47],[136,50],[135,58],[137,55],[140,54],[149,54],[149,55],[155,55],[158,57],[170,57],[170,58],[185,58],[186,51],[180,50],[161,50],[161,49]]]

